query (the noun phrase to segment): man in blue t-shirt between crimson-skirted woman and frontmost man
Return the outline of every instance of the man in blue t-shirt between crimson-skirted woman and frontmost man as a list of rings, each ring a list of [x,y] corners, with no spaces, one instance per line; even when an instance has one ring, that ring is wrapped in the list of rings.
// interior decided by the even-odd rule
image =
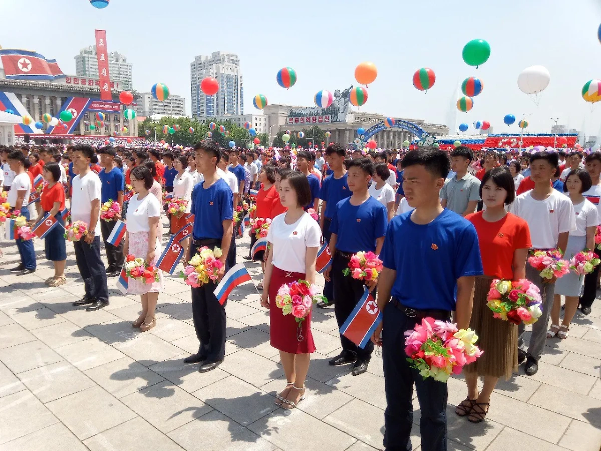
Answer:
[[[353,254],[359,251],[380,253],[388,223],[386,207],[367,191],[374,173],[371,160],[358,158],[349,162],[347,168],[347,183],[353,194],[339,201],[332,214],[329,247],[334,259],[331,268],[324,273],[325,279],[334,283],[334,313],[338,327],[349,318],[364,293],[363,281],[344,275],[343,271],[349,267]],[[371,281],[368,287],[373,290],[376,284]],[[373,343],[369,342],[361,349],[342,334],[340,342],[342,352],[332,358],[329,364],[337,366],[354,362],[352,375],[364,373],[371,359]]]

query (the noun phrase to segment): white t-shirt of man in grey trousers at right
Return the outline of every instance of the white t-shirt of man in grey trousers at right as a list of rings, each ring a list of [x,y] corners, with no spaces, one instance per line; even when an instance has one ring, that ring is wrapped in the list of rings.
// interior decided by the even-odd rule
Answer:
[[[552,189],[545,200],[535,200],[531,193],[528,191],[517,196],[510,212],[528,222],[533,248],[555,248],[560,233],[576,229],[572,201],[557,189]]]

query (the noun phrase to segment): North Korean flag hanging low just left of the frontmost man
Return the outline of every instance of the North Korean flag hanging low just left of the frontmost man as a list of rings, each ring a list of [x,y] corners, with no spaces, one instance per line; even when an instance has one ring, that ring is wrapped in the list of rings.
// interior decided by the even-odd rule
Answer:
[[[380,321],[382,321],[382,312],[377,308],[376,301],[365,287],[363,296],[340,328],[340,333],[363,349],[370,341]]]

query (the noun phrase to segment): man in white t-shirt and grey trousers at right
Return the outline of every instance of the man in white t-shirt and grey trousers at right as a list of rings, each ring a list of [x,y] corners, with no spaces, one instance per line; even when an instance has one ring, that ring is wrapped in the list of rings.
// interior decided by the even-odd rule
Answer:
[[[537,250],[566,250],[569,232],[576,229],[576,214],[569,197],[551,186],[551,178],[558,168],[558,155],[537,152],[530,157],[530,178],[534,189],[520,194],[511,204],[511,213],[528,222],[532,248]],[[545,349],[547,324],[553,307],[555,280],[543,281],[540,272],[526,263],[526,278],[534,283],[543,298],[543,314],[532,325],[530,343],[526,349],[524,334],[526,326],[517,326],[518,363],[526,358],[525,373],[528,376],[538,371],[538,360]]]

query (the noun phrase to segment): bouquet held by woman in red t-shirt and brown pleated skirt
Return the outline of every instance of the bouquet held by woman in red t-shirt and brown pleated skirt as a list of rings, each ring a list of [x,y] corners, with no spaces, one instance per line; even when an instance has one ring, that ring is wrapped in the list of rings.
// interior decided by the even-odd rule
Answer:
[[[486,300],[495,318],[513,324],[534,324],[543,314],[540,290],[527,279],[493,280]]]

